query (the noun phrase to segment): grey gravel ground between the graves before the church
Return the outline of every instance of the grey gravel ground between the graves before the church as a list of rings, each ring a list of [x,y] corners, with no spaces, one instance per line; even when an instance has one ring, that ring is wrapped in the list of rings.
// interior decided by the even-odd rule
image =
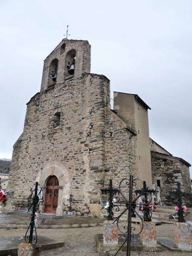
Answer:
[[[186,217],[186,220],[192,220],[192,208],[189,208],[190,214]],[[138,224],[135,224],[136,228],[139,228]],[[173,224],[162,223],[157,225],[157,236],[163,236],[167,238],[173,238]],[[14,237],[24,236],[26,229],[24,228],[0,228],[0,237]],[[44,250],[41,252],[41,256],[107,256],[108,254],[102,254],[96,252],[96,234],[103,233],[102,226],[96,227],[78,227],[78,228],[50,228],[50,229],[37,229],[38,235],[43,235],[49,238],[58,239],[64,241],[65,245],[51,250]],[[109,254],[110,255],[110,254]],[[119,256],[124,256],[124,253],[118,253]],[[141,256],[189,256],[191,252],[178,252],[170,251],[162,247],[162,250],[147,250],[140,253]],[[131,252],[131,256],[137,256],[136,252]]]

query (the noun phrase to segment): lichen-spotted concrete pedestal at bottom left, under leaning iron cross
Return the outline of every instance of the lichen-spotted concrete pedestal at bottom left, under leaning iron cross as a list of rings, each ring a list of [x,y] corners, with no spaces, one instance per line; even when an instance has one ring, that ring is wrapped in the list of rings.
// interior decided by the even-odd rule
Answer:
[[[18,247],[18,256],[40,256],[41,245],[21,243]]]

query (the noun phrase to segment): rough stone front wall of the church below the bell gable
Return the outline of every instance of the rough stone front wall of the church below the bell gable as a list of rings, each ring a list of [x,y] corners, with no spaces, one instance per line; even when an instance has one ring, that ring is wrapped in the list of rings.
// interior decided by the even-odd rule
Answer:
[[[66,210],[70,193],[79,215],[100,202],[105,160],[105,108],[110,83],[105,76],[84,73],[37,93],[27,103],[23,135],[13,153],[9,187],[14,204],[23,208],[35,180],[60,169],[58,207]],[[54,126],[54,115],[60,123]],[[63,167],[62,167],[63,166]],[[63,179],[63,180],[61,180]],[[42,184],[41,184],[42,186]],[[46,186],[46,184],[44,184]],[[62,212],[59,212],[60,214]]]

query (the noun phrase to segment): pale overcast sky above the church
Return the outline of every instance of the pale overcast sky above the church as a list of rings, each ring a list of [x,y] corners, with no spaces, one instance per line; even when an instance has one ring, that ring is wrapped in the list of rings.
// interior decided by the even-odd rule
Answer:
[[[191,0],[0,1],[0,158],[12,157],[43,61],[64,38],[88,40],[91,72],[150,107],[150,137],[192,163]],[[191,172],[192,177],[192,172]]]

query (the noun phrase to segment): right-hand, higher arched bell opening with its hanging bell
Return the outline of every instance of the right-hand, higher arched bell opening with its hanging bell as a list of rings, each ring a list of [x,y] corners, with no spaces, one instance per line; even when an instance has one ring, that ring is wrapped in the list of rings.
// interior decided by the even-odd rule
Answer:
[[[75,73],[76,50],[71,49],[65,57],[65,77]]]

